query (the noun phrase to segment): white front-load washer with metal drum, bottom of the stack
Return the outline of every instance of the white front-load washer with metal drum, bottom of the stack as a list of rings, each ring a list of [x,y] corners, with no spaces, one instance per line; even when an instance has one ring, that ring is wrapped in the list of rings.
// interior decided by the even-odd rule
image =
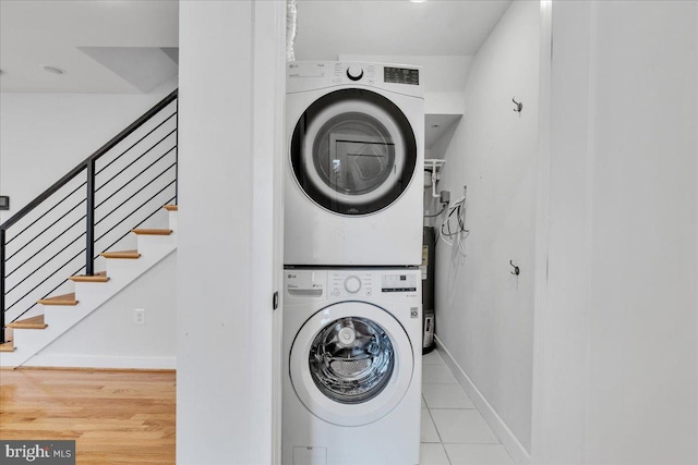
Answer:
[[[414,465],[419,269],[286,269],[284,465]]]

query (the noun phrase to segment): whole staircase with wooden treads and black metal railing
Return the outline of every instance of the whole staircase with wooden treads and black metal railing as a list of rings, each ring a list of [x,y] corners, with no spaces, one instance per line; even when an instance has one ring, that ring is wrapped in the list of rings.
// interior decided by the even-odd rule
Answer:
[[[0,224],[0,366],[27,363],[176,250],[177,96]]]

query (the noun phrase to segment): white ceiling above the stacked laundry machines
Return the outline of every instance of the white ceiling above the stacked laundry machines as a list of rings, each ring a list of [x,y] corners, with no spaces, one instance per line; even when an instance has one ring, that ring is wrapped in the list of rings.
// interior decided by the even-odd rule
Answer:
[[[298,0],[297,60],[476,54],[512,0]]]

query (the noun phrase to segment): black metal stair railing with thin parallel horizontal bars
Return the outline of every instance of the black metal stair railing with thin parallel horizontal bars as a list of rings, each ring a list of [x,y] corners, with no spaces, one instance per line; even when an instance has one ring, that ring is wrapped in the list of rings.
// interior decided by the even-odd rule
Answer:
[[[0,224],[0,343],[7,325],[70,276],[94,276],[99,253],[177,203],[177,97],[176,89]]]

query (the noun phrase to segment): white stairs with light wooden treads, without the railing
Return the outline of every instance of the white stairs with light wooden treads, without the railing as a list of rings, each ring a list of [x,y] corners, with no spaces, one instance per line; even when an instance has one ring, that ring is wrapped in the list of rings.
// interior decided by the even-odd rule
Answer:
[[[19,367],[60,338],[105,302],[177,249],[176,205],[167,205],[168,229],[134,229],[137,249],[105,252],[106,270],[72,276],[74,291],[41,298],[43,314],[7,326],[8,342],[0,345],[0,366]]]

